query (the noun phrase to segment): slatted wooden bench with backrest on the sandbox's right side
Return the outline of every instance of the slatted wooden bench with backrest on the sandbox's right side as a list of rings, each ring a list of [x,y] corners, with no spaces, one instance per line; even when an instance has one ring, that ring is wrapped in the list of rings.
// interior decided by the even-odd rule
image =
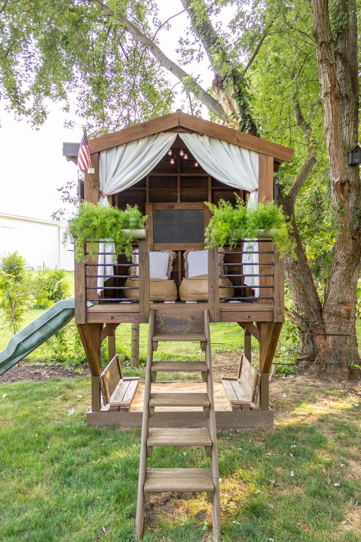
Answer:
[[[226,391],[232,410],[251,410],[252,403],[257,400],[260,373],[254,369],[251,362],[242,354],[238,377],[224,377],[222,384]]]

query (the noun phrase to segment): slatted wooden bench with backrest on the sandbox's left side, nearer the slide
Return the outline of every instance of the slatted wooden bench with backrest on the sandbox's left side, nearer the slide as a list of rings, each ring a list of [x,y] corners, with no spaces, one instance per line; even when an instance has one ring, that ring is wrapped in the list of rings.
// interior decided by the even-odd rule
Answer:
[[[139,384],[139,377],[123,378],[118,354],[115,354],[101,373],[100,383],[104,404],[109,404],[110,412],[129,410]]]

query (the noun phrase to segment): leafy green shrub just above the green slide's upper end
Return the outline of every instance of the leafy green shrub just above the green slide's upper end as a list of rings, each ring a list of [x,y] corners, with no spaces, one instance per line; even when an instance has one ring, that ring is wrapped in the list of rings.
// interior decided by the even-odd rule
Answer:
[[[70,288],[63,269],[45,269],[38,272],[42,291],[35,301],[36,308],[49,308],[51,305],[68,298]]]

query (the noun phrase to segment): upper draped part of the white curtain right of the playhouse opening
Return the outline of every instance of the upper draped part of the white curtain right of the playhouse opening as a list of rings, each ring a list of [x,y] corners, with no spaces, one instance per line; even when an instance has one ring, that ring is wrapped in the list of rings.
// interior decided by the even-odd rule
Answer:
[[[258,188],[258,152],[209,135],[181,133],[180,137],[203,169],[221,183],[247,192]]]

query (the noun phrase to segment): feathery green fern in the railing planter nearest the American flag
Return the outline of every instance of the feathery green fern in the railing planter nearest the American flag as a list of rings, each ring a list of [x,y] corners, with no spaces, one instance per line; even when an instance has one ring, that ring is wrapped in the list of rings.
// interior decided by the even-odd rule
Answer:
[[[99,241],[114,244],[115,254],[125,253],[130,260],[133,237],[124,230],[144,228],[146,218],[136,205],[127,205],[126,209],[121,210],[110,205],[102,207],[82,202],[77,216],[69,221],[65,235],[70,234],[74,238],[74,254],[78,262],[86,260],[86,244],[88,254],[95,256]]]

